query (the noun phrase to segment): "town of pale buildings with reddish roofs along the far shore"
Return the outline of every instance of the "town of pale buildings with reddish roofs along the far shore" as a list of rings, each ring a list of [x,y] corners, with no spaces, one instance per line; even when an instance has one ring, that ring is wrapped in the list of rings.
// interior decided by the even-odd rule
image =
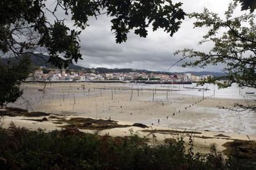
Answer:
[[[192,75],[191,73],[154,73],[138,72],[127,73],[99,73],[95,69],[90,71],[69,69],[48,69],[40,67],[35,70],[26,81],[123,81],[142,83],[192,83],[213,78],[213,75]]]

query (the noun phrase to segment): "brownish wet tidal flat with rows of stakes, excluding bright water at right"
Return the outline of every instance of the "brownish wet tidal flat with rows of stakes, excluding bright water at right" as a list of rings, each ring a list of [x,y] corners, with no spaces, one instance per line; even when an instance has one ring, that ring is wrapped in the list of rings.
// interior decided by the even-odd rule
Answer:
[[[29,100],[30,111],[101,119],[111,117],[119,121],[197,131],[256,134],[255,114],[223,109],[233,108],[234,103],[245,103],[243,99],[221,99],[212,97],[210,92],[205,93],[205,100],[202,100],[202,96],[190,95],[197,91],[188,91],[188,95],[184,94],[186,91],[167,91],[155,86],[132,90],[133,84],[49,84],[45,93],[38,92],[41,86],[43,84],[23,84],[23,97]],[[26,108],[24,102],[19,99],[9,106]]]

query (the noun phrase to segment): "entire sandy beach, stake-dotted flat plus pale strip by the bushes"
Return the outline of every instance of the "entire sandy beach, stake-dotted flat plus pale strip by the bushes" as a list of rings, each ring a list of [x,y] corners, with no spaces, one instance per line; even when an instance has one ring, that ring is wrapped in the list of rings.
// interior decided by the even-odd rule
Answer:
[[[244,103],[245,100],[215,97],[212,91],[205,92],[202,100],[202,96],[184,94],[185,89],[177,85],[152,88],[127,84],[51,83],[47,84],[45,92],[42,92],[38,89],[42,89],[43,84],[26,83],[22,84],[22,88],[23,97],[28,102],[19,99],[9,106],[28,107],[30,111],[58,114],[66,119],[75,116],[113,119],[119,124],[142,123],[150,126],[146,128],[148,130],[196,131],[201,133],[194,134],[195,149],[199,152],[207,152],[212,143],[218,145],[218,150],[224,150],[222,145],[233,139],[256,140],[254,113],[237,113],[223,109],[233,108],[234,103]],[[49,118],[49,121],[44,122],[24,119],[5,116],[4,126],[7,127],[13,121],[16,126],[33,130],[38,127],[46,131],[61,129]],[[140,127],[124,127],[106,129],[98,134],[129,136],[132,132],[140,137],[150,134],[142,132],[143,130]],[[95,132],[87,129],[81,131]],[[176,138],[176,134],[168,132],[155,134],[160,143],[166,138]],[[229,137],[216,137],[220,134]],[[184,133],[184,140],[189,140],[189,134]]]

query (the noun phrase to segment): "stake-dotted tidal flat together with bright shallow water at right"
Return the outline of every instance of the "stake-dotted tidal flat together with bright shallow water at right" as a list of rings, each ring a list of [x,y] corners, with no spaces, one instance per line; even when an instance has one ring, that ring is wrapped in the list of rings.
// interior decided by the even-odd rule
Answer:
[[[38,89],[42,87],[42,84],[37,86],[31,86],[28,84],[23,84],[25,99],[28,99],[30,105],[28,106],[29,110],[38,110],[40,111],[54,111],[54,113],[62,113],[62,114],[75,114],[82,116],[92,116],[95,115],[95,112],[99,112],[99,118],[106,118],[111,116],[111,118],[116,118],[120,121],[133,121],[144,124],[152,124],[156,126],[163,127],[172,127],[172,128],[182,128],[182,129],[190,129],[190,130],[198,130],[198,131],[216,131],[216,132],[230,132],[233,134],[256,134],[256,113],[254,111],[230,111],[226,109],[219,109],[217,107],[216,102],[218,103],[218,99],[221,100],[222,103],[225,103],[227,99],[229,102],[238,99],[247,99],[250,97],[255,97],[255,95],[246,95],[245,92],[254,92],[254,89],[240,89],[239,87],[233,85],[227,89],[217,89],[216,86],[212,84],[205,84],[205,86],[200,86],[197,88],[206,87],[210,89],[210,91],[198,91],[198,89],[187,89],[186,87],[196,87],[196,84],[185,84],[184,86],[181,84],[165,84],[165,85],[155,85],[155,84],[104,84],[104,87],[130,87],[133,89],[143,89],[143,96],[140,95],[137,97],[137,91],[134,91],[134,103],[130,103],[130,92],[131,91],[119,91],[113,90],[113,94],[119,94],[122,92],[122,95],[126,97],[126,99],[121,99],[119,97],[120,102],[127,106],[120,108],[118,103],[111,103],[114,100],[111,100],[112,90],[100,90],[100,89],[88,89],[78,90],[81,84],[72,83],[69,84],[53,84],[48,86],[46,89],[46,93],[38,92]],[[92,84],[91,84],[92,85]],[[102,86],[102,84],[93,84],[92,87]],[[147,91],[145,89],[151,89]],[[145,102],[152,103],[152,93],[155,89],[158,91],[155,94],[154,105],[158,108],[150,108],[147,110],[149,105],[146,105]],[[160,91],[163,89],[164,91]],[[172,92],[168,92],[168,100],[166,100],[166,89],[176,90]],[[180,91],[177,91],[180,90]],[[100,92],[108,96],[105,101],[99,100]],[[209,101],[210,104],[206,107],[207,103],[202,105],[191,105],[192,101],[197,101],[202,99],[202,95],[204,97],[210,97],[213,94],[211,99],[205,100]],[[63,95],[64,98],[63,99]],[[79,107],[75,105],[72,108],[73,99],[82,100],[88,99],[91,102],[78,103]],[[184,100],[185,99],[185,100]],[[63,110],[64,100],[68,103],[66,110]],[[94,100],[95,102],[92,102]],[[122,101],[121,101],[122,100]],[[187,101],[187,103],[186,103]],[[244,100],[241,100],[244,101]],[[49,110],[51,107],[51,103],[57,102],[54,110]],[[79,101],[78,101],[79,102]],[[98,103],[97,103],[98,102]],[[101,103],[100,103],[101,102]],[[105,105],[102,105],[102,102]],[[140,103],[142,102],[142,103]],[[162,102],[164,106],[161,107]],[[173,102],[173,103],[171,103]],[[176,102],[176,103],[174,103]],[[220,102],[220,103],[221,103]],[[110,103],[110,104],[109,104]],[[153,104],[152,103],[152,104]],[[222,104],[221,103],[221,104]],[[14,105],[15,107],[25,108],[25,102],[23,99],[19,99]],[[114,105],[115,107],[112,107]],[[184,110],[184,107],[191,105],[191,108],[188,110]],[[96,109],[95,109],[96,108]],[[108,108],[111,108],[109,110]],[[103,112],[104,110],[104,112]],[[181,110],[181,113],[176,113],[173,116],[173,112],[177,112],[177,110]],[[130,116],[130,112],[133,113]],[[97,113],[98,114],[98,113]],[[136,116],[137,115],[137,116]],[[167,118],[168,116],[168,118]],[[158,124],[158,119],[160,119],[160,123]]]

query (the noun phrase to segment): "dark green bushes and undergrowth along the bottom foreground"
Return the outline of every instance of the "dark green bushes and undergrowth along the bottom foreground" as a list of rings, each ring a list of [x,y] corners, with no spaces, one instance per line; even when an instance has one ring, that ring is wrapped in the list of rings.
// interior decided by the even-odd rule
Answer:
[[[64,130],[66,131],[66,130]],[[166,145],[148,145],[138,136],[109,137],[28,131],[12,123],[0,129],[1,169],[229,169],[213,146],[211,153],[189,156],[182,139]],[[239,165],[244,166],[242,165]]]

